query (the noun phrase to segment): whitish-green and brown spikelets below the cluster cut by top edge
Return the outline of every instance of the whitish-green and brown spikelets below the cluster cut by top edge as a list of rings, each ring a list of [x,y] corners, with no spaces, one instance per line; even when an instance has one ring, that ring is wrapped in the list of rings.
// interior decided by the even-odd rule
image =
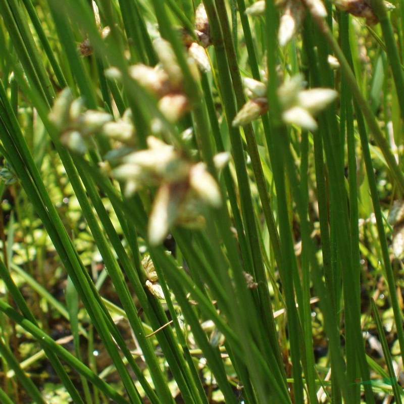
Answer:
[[[251,97],[235,116],[232,125],[248,124],[268,110],[267,87],[253,79],[244,79],[247,94]],[[337,92],[331,88],[312,88],[305,90],[303,77],[298,74],[285,81],[278,89],[279,102],[282,105],[282,119],[285,123],[295,124],[307,130],[316,130],[314,117],[332,103]]]

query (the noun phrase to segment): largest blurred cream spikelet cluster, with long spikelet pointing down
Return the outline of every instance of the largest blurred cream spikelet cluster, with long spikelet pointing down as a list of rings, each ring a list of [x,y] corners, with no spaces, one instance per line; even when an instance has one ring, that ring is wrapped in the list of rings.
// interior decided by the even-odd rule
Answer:
[[[204,205],[217,208],[222,200],[219,186],[204,163],[191,163],[154,136],[147,138],[147,146],[123,157],[111,175],[125,182],[127,196],[145,186],[158,187],[148,221],[148,239],[156,245],[174,224],[203,226]],[[223,155],[218,157],[220,160]]]

